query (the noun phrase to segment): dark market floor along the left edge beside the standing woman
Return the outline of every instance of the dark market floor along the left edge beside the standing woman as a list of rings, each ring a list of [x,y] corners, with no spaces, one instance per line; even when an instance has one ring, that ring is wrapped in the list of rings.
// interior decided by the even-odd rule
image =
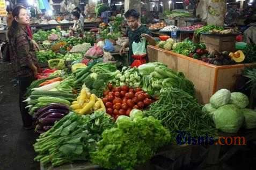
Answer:
[[[10,67],[0,63],[0,166],[1,169],[40,169],[33,161],[33,130],[21,128],[18,87]],[[3,92],[3,93],[1,93]]]

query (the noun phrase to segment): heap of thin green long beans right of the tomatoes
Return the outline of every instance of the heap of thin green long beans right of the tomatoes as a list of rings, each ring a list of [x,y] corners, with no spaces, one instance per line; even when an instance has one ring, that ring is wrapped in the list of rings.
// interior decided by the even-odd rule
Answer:
[[[161,120],[172,134],[178,131],[194,137],[214,134],[213,119],[202,113],[196,98],[181,89],[161,90],[159,100],[151,104],[145,114]]]

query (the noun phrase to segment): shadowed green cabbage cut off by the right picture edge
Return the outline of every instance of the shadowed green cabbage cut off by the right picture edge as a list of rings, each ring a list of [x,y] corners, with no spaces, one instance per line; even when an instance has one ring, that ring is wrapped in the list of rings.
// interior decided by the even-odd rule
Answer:
[[[246,129],[256,128],[256,111],[251,109],[243,109],[244,114],[244,127]]]

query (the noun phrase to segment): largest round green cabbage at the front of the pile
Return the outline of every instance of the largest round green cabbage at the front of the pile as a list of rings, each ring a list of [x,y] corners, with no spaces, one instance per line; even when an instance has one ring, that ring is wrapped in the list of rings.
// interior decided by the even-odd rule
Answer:
[[[235,105],[227,104],[214,112],[214,122],[222,132],[237,133],[244,123],[244,115]]]

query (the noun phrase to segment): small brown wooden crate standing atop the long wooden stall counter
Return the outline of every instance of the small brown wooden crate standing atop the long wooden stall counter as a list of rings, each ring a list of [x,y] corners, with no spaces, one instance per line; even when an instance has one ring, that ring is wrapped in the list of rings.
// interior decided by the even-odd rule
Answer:
[[[236,35],[206,35],[202,34],[200,42],[206,44],[209,52],[217,51],[236,51]]]

